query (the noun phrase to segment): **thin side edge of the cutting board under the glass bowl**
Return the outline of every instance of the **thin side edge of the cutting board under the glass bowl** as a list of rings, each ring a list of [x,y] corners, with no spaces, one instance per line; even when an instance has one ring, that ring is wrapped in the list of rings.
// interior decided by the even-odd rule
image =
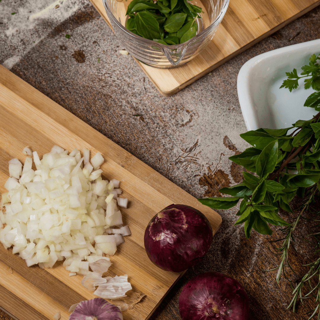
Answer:
[[[101,10],[99,9],[99,7],[95,4],[94,0],[90,0],[90,2],[92,3],[92,5],[95,7],[95,9],[99,12],[100,16],[107,22],[108,26],[111,28],[111,30],[114,32],[111,23],[109,20],[106,19],[106,13],[105,12],[101,12]],[[249,42],[248,44],[244,45],[243,47],[241,47],[240,49],[236,50],[235,52],[231,53],[230,55],[228,55],[227,57],[225,57],[224,59],[220,60],[218,63],[213,64],[210,68],[205,69],[204,71],[200,72],[199,74],[197,74],[196,76],[190,78],[188,81],[184,82],[183,84],[180,84],[178,87],[174,88],[171,91],[163,91],[159,88],[159,86],[156,84],[156,82],[152,79],[152,77],[149,75],[149,73],[147,72],[147,70],[145,68],[143,68],[144,63],[137,60],[136,58],[133,57],[134,60],[136,60],[136,62],[138,63],[138,65],[140,66],[140,68],[142,69],[142,71],[148,76],[148,78],[150,79],[150,81],[155,85],[155,87],[157,88],[157,90],[164,96],[164,97],[170,97],[173,94],[179,92],[180,90],[182,90],[183,88],[185,88],[186,86],[188,86],[189,84],[192,84],[193,82],[195,82],[196,80],[200,79],[201,77],[203,77],[204,75],[206,75],[207,73],[211,72],[212,70],[220,67],[222,64],[224,64],[225,62],[227,62],[228,60],[231,60],[232,58],[234,58],[236,55],[238,55],[241,52],[244,52],[245,50],[247,50],[248,48],[252,47],[252,45],[257,44],[258,42],[260,42],[261,40],[265,39],[266,37],[272,35],[273,33],[275,33],[276,31],[278,31],[279,29],[283,28],[284,26],[286,26],[287,24],[289,24],[290,22],[298,19],[299,17],[303,16],[305,13],[309,12],[310,10],[316,8],[318,5],[320,4],[320,0],[318,0],[317,2],[315,2],[314,4],[311,4],[309,7],[305,8],[304,10],[298,12],[297,14],[293,15],[292,17],[290,17],[289,19],[283,21],[282,23],[280,23],[279,25],[277,25],[276,27],[270,29],[268,32],[264,33],[263,35],[259,36],[258,38],[254,39],[253,41]],[[179,69],[179,67],[177,67],[177,69]]]

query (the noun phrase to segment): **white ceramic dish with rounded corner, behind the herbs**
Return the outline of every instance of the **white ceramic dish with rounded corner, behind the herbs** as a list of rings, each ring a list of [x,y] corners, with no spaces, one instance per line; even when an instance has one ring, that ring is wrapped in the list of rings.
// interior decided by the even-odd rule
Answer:
[[[304,79],[299,80],[298,89],[292,92],[279,88],[287,78],[285,72],[296,68],[299,75],[301,67],[309,63],[309,57],[319,52],[320,39],[317,39],[262,53],[241,67],[237,90],[248,131],[287,128],[297,120],[311,119],[317,113],[313,108],[303,106],[314,91],[304,89]]]

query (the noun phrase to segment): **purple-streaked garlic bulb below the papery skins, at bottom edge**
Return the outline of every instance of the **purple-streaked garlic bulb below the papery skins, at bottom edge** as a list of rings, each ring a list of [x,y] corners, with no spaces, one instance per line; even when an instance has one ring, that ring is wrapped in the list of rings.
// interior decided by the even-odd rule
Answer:
[[[102,299],[81,301],[69,316],[69,320],[123,320],[120,309]]]

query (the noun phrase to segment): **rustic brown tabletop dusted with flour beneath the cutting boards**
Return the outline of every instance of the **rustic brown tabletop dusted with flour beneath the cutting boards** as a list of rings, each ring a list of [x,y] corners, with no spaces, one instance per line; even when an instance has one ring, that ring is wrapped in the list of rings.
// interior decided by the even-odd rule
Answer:
[[[248,147],[239,137],[246,127],[236,91],[244,62],[320,37],[316,7],[180,92],[163,97],[133,58],[119,53],[124,49],[120,41],[88,0],[6,0],[0,12],[4,67],[195,197],[216,196],[220,188],[242,181],[242,168],[228,157]],[[262,271],[279,261],[268,250],[268,241],[281,236],[278,228],[272,236],[252,231],[246,240],[243,226],[233,226],[236,211],[218,212],[222,227],[209,253],[185,273],[150,319],[180,319],[182,287],[208,271],[243,284],[251,319],[307,319],[304,313],[312,304],[307,301],[292,314],[286,309],[289,283],[281,278],[276,284],[276,271]],[[298,230],[298,252],[290,252],[296,279],[303,271],[299,263],[313,258],[312,246],[302,238],[306,224]]]

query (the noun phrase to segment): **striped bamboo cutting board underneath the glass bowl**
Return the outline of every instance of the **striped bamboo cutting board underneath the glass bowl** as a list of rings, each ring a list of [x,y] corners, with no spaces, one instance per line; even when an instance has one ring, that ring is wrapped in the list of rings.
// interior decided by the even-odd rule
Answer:
[[[102,0],[90,1],[111,28]],[[136,61],[160,93],[168,97],[319,4],[320,0],[230,0],[212,41],[193,60],[171,69]]]

